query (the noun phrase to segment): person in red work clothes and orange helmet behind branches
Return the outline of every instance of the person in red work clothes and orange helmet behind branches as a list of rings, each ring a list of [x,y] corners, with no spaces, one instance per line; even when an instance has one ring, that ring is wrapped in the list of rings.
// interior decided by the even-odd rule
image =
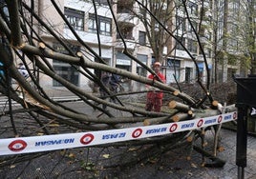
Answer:
[[[158,76],[156,76],[156,74],[150,74],[148,75],[148,78],[165,83],[166,81],[165,76],[160,72],[160,67],[161,67],[160,62],[155,62],[153,65],[153,70],[156,72]],[[162,106],[163,92],[155,91],[154,88],[151,88],[149,86],[147,86],[147,88],[149,88],[150,91],[147,92],[147,101],[146,101],[145,109],[147,111],[160,112],[160,108]]]

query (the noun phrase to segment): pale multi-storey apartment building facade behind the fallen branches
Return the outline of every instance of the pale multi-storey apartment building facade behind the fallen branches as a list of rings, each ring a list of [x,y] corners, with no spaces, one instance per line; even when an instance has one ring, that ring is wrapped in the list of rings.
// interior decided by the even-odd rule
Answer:
[[[109,66],[147,76],[148,72],[145,69],[122,52],[124,48],[127,48],[140,62],[148,67],[151,67],[155,60],[153,51],[149,46],[150,43],[148,42],[145,27],[139,21],[139,17],[131,13],[131,10],[138,10],[139,13],[139,5],[133,4],[134,1],[113,0],[111,1],[113,11],[111,11],[106,0],[96,0],[95,2],[96,4],[93,4],[91,1],[82,0],[59,0],[57,3],[59,9],[62,10],[81,41],[101,56]],[[187,13],[194,17],[191,19],[198,19],[196,17],[200,14],[201,5],[196,2],[188,1],[187,3]],[[69,43],[72,50],[82,51],[86,58],[91,61],[97,61],[90,51],[84,49],[80,45],[81,43],[77,42],[73,31],[57,14],[51,1],[39,1],[37,6],[39,16],[42,19],[47,19],[52,24],[53,29],[60,34],[61,38]],[[210,6],[210,4],[207,4],[207,6]],[[113,13],[116,19],[113,18]],[[205,16],[212,15],[209,11],[204,13]],[[202,52],[197,43],[197,36],[193,32],[193,30],[197,31],[199,21],[188,21],[185,18],[186,15],[184,10],[181,10],[179,7],[175,8],[171,26],[172,33],[181,41],[189,53],[174,38],[170,40],[172,43],[162,51],[165,56],[162,61],[162,72],[166,76],[167,84],[175,83],[176,81],[193,83],[197,80],[198,76],[205,81],[206,69],[209,72],[208,75],[213,75],[212,46],[207,43],[207,39],[212,38],[212,33],[206,29],[201,33],[204,39],[206,39],[201,42],[204,51]],[[39,34],[45,41],[52,44],[54,50],[68,53],[47,32],[41,30]],[[191,59],[191,55],[194,60]],[[203,62],[205,58],[207,59],[207,64]],[[88,78],[79,75],[75,67],[56,60],[53,60],[51,63],[53,69],[62,77],[72,81],[80,88],[89,88],[88,83],[90,82]],[[207,67],[205,67],[206,65]],[[92,70],[92,72],[97,73],[98,71]],[[41,81],[45,87],[61,88],[60,84],[51,81],[47,76],[42,74],[41,78],[44,79]],[[129,86],[129,88],[133,89],[140,88],[133,83],[130,83]]]

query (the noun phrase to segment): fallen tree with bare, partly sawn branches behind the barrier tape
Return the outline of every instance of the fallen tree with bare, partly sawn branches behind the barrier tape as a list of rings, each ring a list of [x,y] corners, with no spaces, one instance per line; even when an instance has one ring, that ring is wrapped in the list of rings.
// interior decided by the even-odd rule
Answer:
[[[3,70],[5,72],[5,76],[2,76],[0,91],[4,95],[8,96],[10,100],[14,100],[19,103],[24,108],[24,110],[12,110],[10,101],[10,109],[4,112],[5,115],[10,115],[11,117],[13,112],[27,112],[36,121],[40,129],[43,129],[43,134],[53,134],[52,131],[49,131],[49,121],[41,120],[41,116],[47,119],[55,119],[58,124],[64,124],[68,127],[82,129],[84,131],[91,131],[115,129],[117,128],[117,125],[124,125],[125,127],[129,128],[133,125],[150,126],[170,122],[189,121],[195,118],[203,118],[225,113],[226,111],[236,110],[234,105],[223,107],[221,103],[219,103],[217,100],[214,100],[214,96],[212,96],[209,89],[209,81],[207,81],[206,85],[204,85],[201,79],[198,78],[197,83],[199,86],[197,86],[197,88],[200,87],[202,89],[203,96],[201,96],[201,98],[194,98],[193,96],[185,93],[185,91],[176,89],[168,84],[163,84],[158,81],[139,76],[130,71],[120,70],[104,64],[102,57],[79,38],[78,34],[68,23],[64,14],[58,10],[57,6],[54,4],[54,1],[52,2],[54,9],[58,12],[58,14],[60,14],[63,22],[65,22],[69,29],[73,32],[77,42],[83,46],[85,50],[88,50],[90,55],[93,55],[100,63],[88,60],[84,51],[71,50],[71,48],[68,46],[69,43],[67,43],[64,38],[60,38],[58,33],[53,30],[53,27],[43,21],[43,19],[41,19],[28,4],[23,1],[20,3],[18,1],[7,1],[6,3],[10,13],[10,18],[4,15],[2,15],[0,18],[0,30],[2,36],[2,42],[0,43],[0,60],[3,64]],[[64,54],[53,50],[51,45],[48,44],[45,39],[40,37],[36,30],[33,29],[33,26],[30,23],[28,17],[25,15],[24,11],[28,12],[31,15],[31,18],[35,19],[36,23],[38,23],[41,28],[47,30],[52,35],[54,40],[60,43],[65,48],[65,50],[69,51],[69,54]],[[32,30],[32,33],[29,32],[30,30]],[[167,32],[170,33],[170,31]],[[189,51],[187,52],[189,53]],[[129,50],[124,49],[123,53],[139,63],[139,65],[141,65],[145,70],[154,73],[153,70],[141,63],[139,59],[134,57],[129,52]],[[15,55],[15,59],[13,55]],[[189,55],[192,57],[192,60],[195,60],[190,53]],[[30,81],[25,79],[24,76],[22,76],[19,70],[16,68],[17,59],[24,63],[26,69],[29,72],[31,79]],[[58,75],[53,69],[53,66],[49,63],[48,59],[57,60],[61,63],[71,65],[80,75],[90,79],[94,84],[96,84],[97,87],[100,87],[109,93],[109,96],[107,97],[116,98],[117,103],[109,102],[102,99],[97,94],[78,88],[70,81]],[[30,69],[31,66],[29,65],[31,63],[32,70]],[[206,59],[205,63],[207,63]],[[129,80],[136,81],[139,84],[150,85],[158,90],[168,93],[169,95],[173,96],[173,98],[178,100],[173,100],[170,98],[168,102],[169,109],[167,110],[162,110],[161,112],[145,111],[143,107],[139,108],[138,106],[132,103],[127,103],[125,100],[123,100],[123,98],[120,97],[122,95],[121,93],[111,93],[109,89],[104,87],[100,81],[99,76],[96,76],[92,70],[101,70],[115,73],[119,76],[128,78]],[[40,83],[38,82],[39,73],[43,73],[51,77],[53,80],[61,84],[65,89],[71,91],[80,102],[90,106],[91,109],[101,111],[101,114],[103,115],[100,114],[100,117],[92,116],[86,113],[86,111],[77,111],[72,107],[67,107],[55,101],[49,96],[49,94],[44,90],[43,87],[41,87]],[[20,97],[17,90],[11,86],[11,78],[18,84],[20,88],[18,92],[23,93],[22,97]],[[143,94],[147,91],[148,90],[137,92],[141,92]],[[135,91],[126,91],[123,95],[129,96],[134,93]],[[108,109],[103,109],[97,104],[105,105]],[[113,111],[109,109],[115,109],[116,113],[127,112],[129,115],[117,116],[116,113],[113,113]],[[14,136],[20,136],[21,134],[16,129],[16,125],[12,117],[11,126]],[[210,157],[215,162],[220,163],[219,165],[215,164],[215,166],[222,167],[224,165],[224,161],[216,157],[217,149],[220,148],[218,145],[220,128],[221,126],[218,125],[212,128],[202,128],[193,131],[188,130],[182,132],[181,134],[170,134],[154,139],[145,139],[139,141],[126,141],[125,143],[110,144],[101,147],[126,146],[127,144],[129,144],[129,146],[152,144],[152,149],[156,148],[156,145],[164,147],[163,150],[156,150],[157,152],[162,152],[187,144],[190,144],[190,147],[193,147],[195,141],[201,139],[202,146],[200,148],[194,146],[191,149],[196,149],[197,151],[202,152],[203,156]],[[212,129],[214,131],[215,140],[213,141],[213,152],[204,150],[204,134],[207,129]],[[170,140],[170,138],[172,140]],[[143,157],[146,156],[141,155],[141,158]]]

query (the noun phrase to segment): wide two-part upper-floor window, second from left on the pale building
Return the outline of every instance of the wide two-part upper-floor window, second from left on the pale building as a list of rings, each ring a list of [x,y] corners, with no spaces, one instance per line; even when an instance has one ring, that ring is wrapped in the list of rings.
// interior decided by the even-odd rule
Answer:
[[[97,15],[97,22],[98,22],[99,34],[111,36],[112,19]],[[97,32],[97,29],[96,29],[96,15],[93,14],[93,13],[89,14],[89,28],[88,28],[88,31],[92,32],[92,33]]]

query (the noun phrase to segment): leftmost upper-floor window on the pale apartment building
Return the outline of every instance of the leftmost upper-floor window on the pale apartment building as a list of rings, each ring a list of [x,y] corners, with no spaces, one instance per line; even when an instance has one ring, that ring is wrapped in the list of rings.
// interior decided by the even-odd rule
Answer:
[[[65,17],[74,28],[74,30],[84,30],[84,12],[80,10],[73,10],[65,8]],[[67,28],[67,26],[66,26]]]

